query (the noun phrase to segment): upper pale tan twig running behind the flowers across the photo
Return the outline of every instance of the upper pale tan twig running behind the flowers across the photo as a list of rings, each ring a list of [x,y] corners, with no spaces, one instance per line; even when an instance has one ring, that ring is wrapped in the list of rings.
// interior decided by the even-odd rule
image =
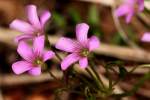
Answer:
[[[14,41],[13,39],[19,34],[21,33],[1,28],[0,42],[6,43],[11,47],[15,47],[17,44],[13,42]],[[58,39],[59,37],[57,36],[49,36],[49,40],[52,45],[55,45]],[[100,47],[95,50],[95,53],[99,55],[115,57],[122,60],[150,63],[150,52],[138,48],[114,46],[101,43]]]

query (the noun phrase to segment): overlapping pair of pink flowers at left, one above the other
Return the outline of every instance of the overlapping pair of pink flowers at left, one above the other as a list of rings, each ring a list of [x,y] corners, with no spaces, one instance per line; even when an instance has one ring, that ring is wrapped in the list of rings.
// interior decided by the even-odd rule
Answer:
[[[12,69],[16,74],[28,71],[31,75],[40,75],[44,62],[55,55],[53,51],[44,50],[44,25],[51,14],[45,11],[39,18],[36,6],[29,5],[27,6],[27,15],[30,23],[16,19],[10,24],[11,28],[23,33],[15,39],[18,43],[17,52],[23,60],[12,64]],[[33,42],[33,48],[27,43],[29,39]]]

